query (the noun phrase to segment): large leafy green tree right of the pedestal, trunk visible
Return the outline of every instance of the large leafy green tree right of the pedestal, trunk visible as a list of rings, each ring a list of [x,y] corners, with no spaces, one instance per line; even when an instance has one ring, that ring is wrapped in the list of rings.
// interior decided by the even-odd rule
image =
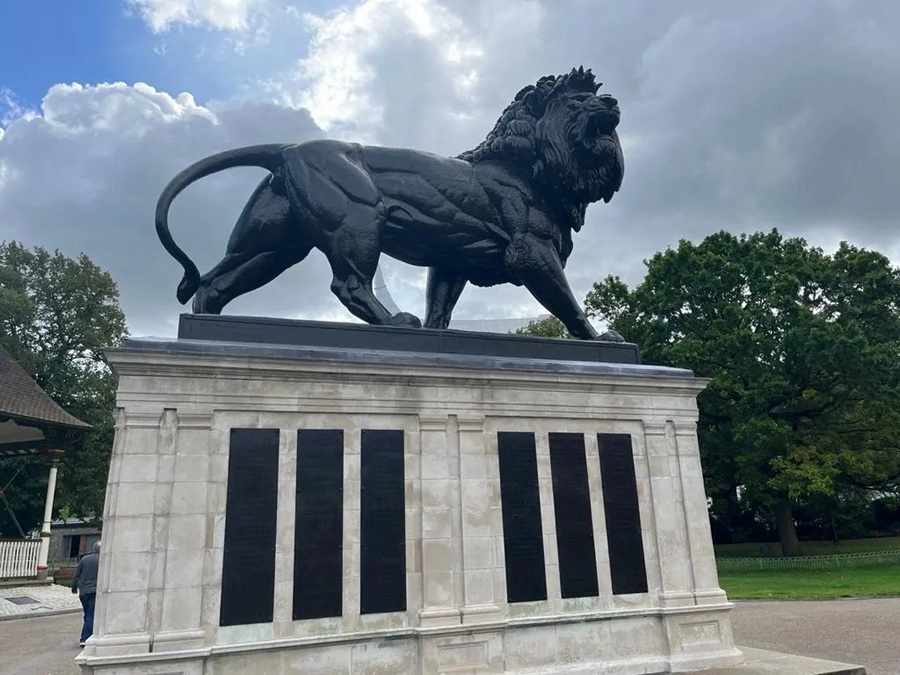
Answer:
[[[645,362],[711,378],[699,433],[715,509],[768,512],[798,555],[796,506],[896,485],[900,272],[887,258],[773,230],[681,241],[646,266],[633,290],[595,284],[586,306]]]

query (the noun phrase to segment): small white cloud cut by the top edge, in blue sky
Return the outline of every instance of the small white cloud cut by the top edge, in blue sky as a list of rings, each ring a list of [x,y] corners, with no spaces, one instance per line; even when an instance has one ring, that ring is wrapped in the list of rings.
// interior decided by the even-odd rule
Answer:
[[[218,30],[245,30],[266,0],[126,0],[157,33],[184,24]]]

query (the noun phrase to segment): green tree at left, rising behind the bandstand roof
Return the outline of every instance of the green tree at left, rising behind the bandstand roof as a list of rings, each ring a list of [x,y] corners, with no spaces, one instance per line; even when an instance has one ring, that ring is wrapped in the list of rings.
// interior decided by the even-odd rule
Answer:
[[[126,335],[116,284],[87,256],[0,243],[0,345],[62,408],[93,426],[60,463],[57,510],[102,514],[115,403],[103,348]],[[38,525],[46,458],[0,461],[0,488],[10,480],[6,495],[22,527]],[[0,510],[0,532],[14,531],[9,514]]]

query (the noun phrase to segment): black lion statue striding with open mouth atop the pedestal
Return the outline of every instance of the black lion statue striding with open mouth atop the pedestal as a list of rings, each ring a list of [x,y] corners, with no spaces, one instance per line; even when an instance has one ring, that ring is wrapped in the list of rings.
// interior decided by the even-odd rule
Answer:
[[[372,290],[382,253],[428,267],[426,328],[447,328],[467,283],[525,286],[582,339],[597,339],[563,269],[585,209],[622,184],[619,107],[590,70],[522,89],[478,147],[456,158],[334,140],[256,145],[188,167],[163,190],[156,231],[184,267],[178,300],[218,314],[313,248],[328,258],[331,290],[370,324],[420,327],[391,314]],[[201,276],[169,233],[172,200],[194,181],[238,166],[270,172],[231,233],[225,257]],[[613,331],[599,336],[620,341]]]

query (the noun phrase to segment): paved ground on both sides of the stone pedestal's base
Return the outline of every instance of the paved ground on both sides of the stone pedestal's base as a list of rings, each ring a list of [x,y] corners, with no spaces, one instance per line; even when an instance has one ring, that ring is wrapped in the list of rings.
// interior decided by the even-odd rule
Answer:
[[[741,645],[900,674],[900,598],[740,602],[732,620]],[[77,613],[0,621],[0,673],[77,675],[80,630]]]

